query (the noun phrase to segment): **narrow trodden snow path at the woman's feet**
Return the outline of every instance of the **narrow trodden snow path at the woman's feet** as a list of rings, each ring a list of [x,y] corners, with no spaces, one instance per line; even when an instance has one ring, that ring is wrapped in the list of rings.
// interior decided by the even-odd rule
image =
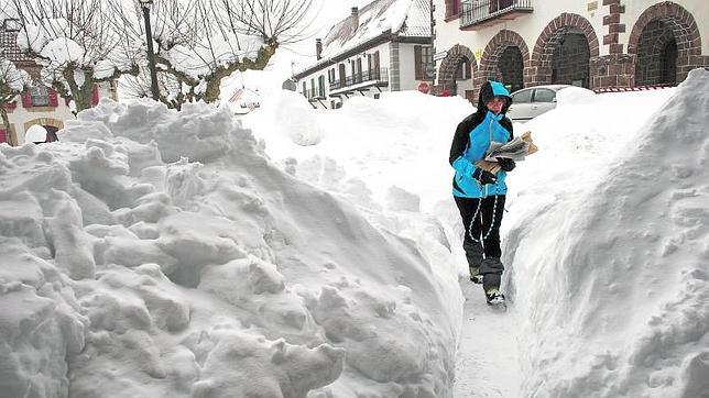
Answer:
[[[520,396],[519,322],[488,307],[480,285],[461,281],[466,297],[460,346],[456,358],[455,398]]]

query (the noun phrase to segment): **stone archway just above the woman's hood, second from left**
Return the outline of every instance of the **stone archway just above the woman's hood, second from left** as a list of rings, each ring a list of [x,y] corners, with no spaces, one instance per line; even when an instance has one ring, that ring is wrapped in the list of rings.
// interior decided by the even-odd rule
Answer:
[[[530,63],[530,49],[516,32],[502,30],[495,34],[480,57],[476,88],[486,80],[499,80],[510,86],[511,91],[527,85],[524,70]]]

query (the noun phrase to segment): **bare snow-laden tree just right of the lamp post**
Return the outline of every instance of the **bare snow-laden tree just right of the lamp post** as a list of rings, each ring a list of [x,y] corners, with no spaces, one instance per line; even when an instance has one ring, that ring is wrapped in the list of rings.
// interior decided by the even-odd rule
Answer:
[[[218,100],[225,77],[263,69],[281,44],[305,38],[312,2],[155,0],[151,23],[160,100],[176,109],[185,102]],[[137,37],[143,34],[139,18],[135,13],[133,21],[124,21]],[[133,92],[148,92],[142,77],[130,86]]]

